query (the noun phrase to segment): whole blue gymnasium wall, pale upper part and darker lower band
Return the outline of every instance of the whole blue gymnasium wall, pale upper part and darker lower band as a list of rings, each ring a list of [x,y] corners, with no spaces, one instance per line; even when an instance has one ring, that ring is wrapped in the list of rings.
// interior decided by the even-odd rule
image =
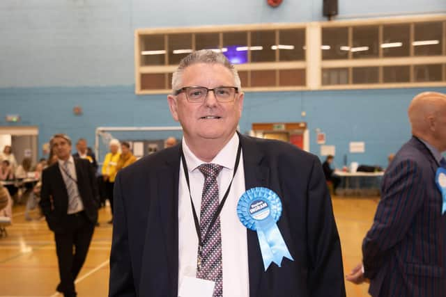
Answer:
[[[211,24],[321,21],[322,0],[2,0],[0,1],[0,125],[4,115],[39,128],[39,145],[63,131],[94,141],[98,126],[176,125],[165,95],[134,95],[134,29]],[[444,0],[339,0],[339,19],[446,12]],[[446,88],[432,88],[446,92]],[[348,161],[385,165],[410,136],[406,108],[420,89],[247,93],[241,131],[252,122],[308,122],[336,145],[337,163],[350,141],[366,154]],[[73,106],[84,114],[72,114]],[[301,111],[307,116],[302,118]]]

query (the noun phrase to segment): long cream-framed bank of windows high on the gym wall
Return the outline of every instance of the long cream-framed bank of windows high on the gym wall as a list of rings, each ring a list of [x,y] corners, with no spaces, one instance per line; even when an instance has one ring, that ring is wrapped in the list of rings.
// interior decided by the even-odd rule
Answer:
[[[135,92],[170,93],[199,49],[222,52],[248,92],[446,86],[445,42],[445,15],[137,29]]]

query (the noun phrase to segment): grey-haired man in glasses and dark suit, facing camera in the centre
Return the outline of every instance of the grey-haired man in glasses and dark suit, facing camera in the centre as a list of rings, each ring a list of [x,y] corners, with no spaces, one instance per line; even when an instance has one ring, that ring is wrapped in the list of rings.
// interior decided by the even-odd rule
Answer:
[[[169,109],[183,141],[116,178],[109,296],[198,296],[187,289],[194,285],[203,296],[207,284],[206,296],[345,296],[318,158],[236,133],[244,94],[222,54],[190,54],[172,86]],[[292,259],[280,267],[263,266],[257,233],[238,219],[238,200],[254,187],[269,188],[282,203],[277,227]]]

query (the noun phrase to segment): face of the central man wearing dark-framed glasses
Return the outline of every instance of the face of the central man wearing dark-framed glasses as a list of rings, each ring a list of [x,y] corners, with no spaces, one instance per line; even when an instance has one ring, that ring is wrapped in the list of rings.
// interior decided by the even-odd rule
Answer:
[[[183,70],[180,87],[186,86],[234,86],[234,78],[223,65],[197,63]],[[217,102],[212,91],[201,103],[187,101],[184,92],[167,98],[172,117],[183,127],[186,141],[229,141],[242,115],[243,93],[236,94],[232,102]]]

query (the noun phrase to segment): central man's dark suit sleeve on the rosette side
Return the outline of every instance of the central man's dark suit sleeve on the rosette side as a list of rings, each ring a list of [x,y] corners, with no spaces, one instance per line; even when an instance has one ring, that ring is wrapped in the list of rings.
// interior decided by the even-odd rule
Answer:
[[[311,296],[346,296],[341,242],[321,162],[316,157],[307,189],[307,205],[307,244],[311,259],[308,282]]]

